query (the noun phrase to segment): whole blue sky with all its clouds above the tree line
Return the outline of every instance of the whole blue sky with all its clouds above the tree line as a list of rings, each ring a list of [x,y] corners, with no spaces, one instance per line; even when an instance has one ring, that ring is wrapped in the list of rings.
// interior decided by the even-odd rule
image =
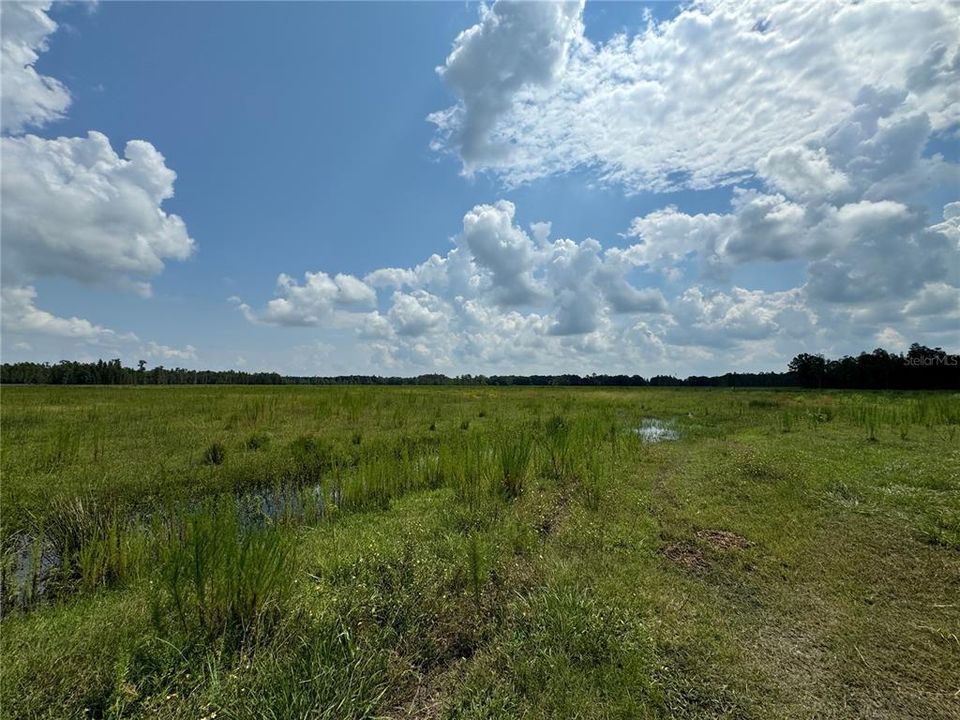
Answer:
[[[960,12],[0,3],[2,358],[720,374],[960,349]]]

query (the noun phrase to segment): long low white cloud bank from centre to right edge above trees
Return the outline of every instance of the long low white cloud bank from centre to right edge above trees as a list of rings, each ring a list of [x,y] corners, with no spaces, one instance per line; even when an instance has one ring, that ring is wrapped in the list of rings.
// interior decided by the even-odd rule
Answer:
[[[549,223],[532,226],[531,238],[512,204],[478,205],[446,255],[365,277],[379,293],[378,309],[316,313],[316,324],[354,328],[373,366],[391,371],[783,367],[801,350],[859,350],[884,328],[940,338],[952,317],[942,309],[955,300],[958,208],[948,205],[943,222],[927,225],[920,209],[893,200],[805,204],[739,190],[729,213],[666,208],[634,221],[628,237],[637,242],[604,248],[591,238],[551,239]],[[637,281],[691,258],[707,270],[700,282]],[[784,260],[807,263],[805,284],[721,287],[723,274],[739,265]],[[332,294],[335,283],[317,275]],[[241,309],[257,321],[290,324],[271,311],[286,301],[288,286],[264,311]],[[516,288],[535,292],[504,292]],[[524,302],[505,302],[511,295]]]

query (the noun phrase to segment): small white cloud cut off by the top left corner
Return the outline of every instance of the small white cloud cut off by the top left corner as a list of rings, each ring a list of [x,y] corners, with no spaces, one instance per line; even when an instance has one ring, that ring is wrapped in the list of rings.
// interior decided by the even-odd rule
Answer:
[[[47,15],[51,3],[0,3],[0,117],[4,132],[19,133],[63,117],[70,93],[55,78],[34,68],[57,24]]]

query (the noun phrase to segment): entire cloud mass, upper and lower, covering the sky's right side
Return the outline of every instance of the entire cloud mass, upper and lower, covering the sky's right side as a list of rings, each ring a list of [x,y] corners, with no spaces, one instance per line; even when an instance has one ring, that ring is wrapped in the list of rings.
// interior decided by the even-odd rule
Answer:
[[[799,350],[955,343],[960,170],[930,148],[956,141],[958,41],[939,0],[705,1],[604,43],[582,3],[500,0],[438,68],[456,103],[429,118],[434,149],[506,191],[586,171],[628,195],[728,188],[729,207],[664,205],[604,245],[479,204],[445,254],[354,278],[376,309],[318,313],[281,282],[244,312],[453,371],[782,367]],[[750,287],[767,269],[800,280]]]

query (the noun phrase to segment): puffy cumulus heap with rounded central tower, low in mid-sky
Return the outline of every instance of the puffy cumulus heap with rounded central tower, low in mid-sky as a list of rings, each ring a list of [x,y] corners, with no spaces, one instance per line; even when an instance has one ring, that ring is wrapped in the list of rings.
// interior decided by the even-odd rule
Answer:
[[[477,205],[464,215],[462,232],[445,256],[433,255],[412,268],[376,269],[363,280],[308,272],[300,285],[281,275],[279,297],[263,309],[232,301],[254,322],[353,325],[366,337],[381,338],[419,337],[474,323],[481,307],[489,308],[488,318],[516,311],[536,316],[539,327],[558,336],[590,333],[608,315],[665,311],[659,289],[630,282],[638,263],[629,250],[604,251],[592,239],[551,241],[549,223],[535,224],[533,232],[535,240],[517,223],[513,203]],[[348,285],[352,292],[346,297]],[[389,308],[361,313],[376,305],[377,291],[385,301],[392,291]],[[359,307],[345,307],[347,300]]]

